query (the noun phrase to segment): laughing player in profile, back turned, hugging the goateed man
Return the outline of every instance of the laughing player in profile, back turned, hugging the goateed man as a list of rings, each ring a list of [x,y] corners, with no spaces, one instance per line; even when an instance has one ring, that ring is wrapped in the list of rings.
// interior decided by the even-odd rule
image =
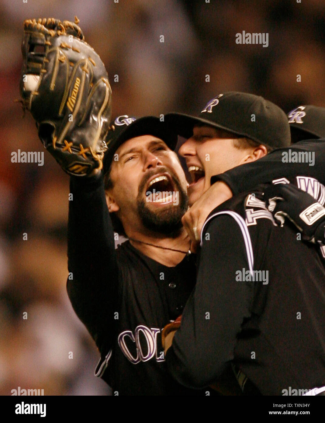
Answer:
[[[224,93],[198,118],[172,115],[180,135],[192,131],[180,154],[210,179],[260,158],[275,143],[288,145],[284,113],[272,119],[277,135],[270,135],[265,116],[273,107],[261,97]],[[254,125],[247,124],[252,114]],[[202,185],[194,179],[192,198]],[[318,188],[320,194],[319,182]],[[231,362],[244,393],[325,391],[322,258],[317,246],[298,240],[295,226],[276,225],[264,190],[235,195],[205,221],[195,291],[166,355],[169,371],[185,386],[210,385]],[[325,209],[313,213],[324,215]]]

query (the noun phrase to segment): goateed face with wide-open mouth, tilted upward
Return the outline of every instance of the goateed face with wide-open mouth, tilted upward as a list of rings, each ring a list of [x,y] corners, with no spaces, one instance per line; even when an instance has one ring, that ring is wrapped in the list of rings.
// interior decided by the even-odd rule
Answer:
[[[126,234],[149,229],[172,234],[187,210],[187,182],[177,154],[152,135],[131,138],[115,153],[107,190]]]

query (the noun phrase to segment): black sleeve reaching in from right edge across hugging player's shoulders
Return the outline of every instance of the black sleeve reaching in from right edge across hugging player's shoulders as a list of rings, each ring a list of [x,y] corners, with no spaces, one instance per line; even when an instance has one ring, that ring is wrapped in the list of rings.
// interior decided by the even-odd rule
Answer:
[[[307,162],[288,162],[289,152],[297,151],[300,154],[309,154]],[[312,160],[314,159],[314,163]],[[289,158],[288,158],[289,160]],[[212,176],[211,184],[216,181],[224,181],[232,190],[233,195],[239,192],[251,190],[259,184],[272,182],[274,179],[285,177],[295,178],[298,175],[311,176],[323,185],[325,184],[325,140],[300,141],[287,148],[279,148],[267,154],[255,162],[246,163],[227,170],[216,176]]]

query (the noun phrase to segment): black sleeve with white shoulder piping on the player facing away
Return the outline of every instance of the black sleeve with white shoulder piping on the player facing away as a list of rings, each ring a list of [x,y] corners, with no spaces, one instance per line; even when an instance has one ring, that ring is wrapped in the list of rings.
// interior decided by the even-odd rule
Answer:
[[[249,234],[235,215],[237,220],[220,214],[205,228],[209,236],[202,244],[197,284],[166,354],[170,373],[187,387],[208,386],[221,375],[234,358],[243,319],[250,316],[252,282],[238,278],[252,267]]]

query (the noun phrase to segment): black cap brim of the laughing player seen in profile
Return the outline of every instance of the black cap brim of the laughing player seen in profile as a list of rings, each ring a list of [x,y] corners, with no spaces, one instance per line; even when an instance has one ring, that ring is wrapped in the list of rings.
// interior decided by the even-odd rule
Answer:
[[[184,138],[190,138],[193,135],[193,128],[197,124],[205,124],[208,126],[213,126],[213,128],[224,129],[225,131],[236,135],[241,135],[243,137],[246,136],[244,133],[234,132],[232,129],[227,128],[227,126],[216,124],[215,122],[209,121],[208,119],[195,118],[183,113],[168,113],[165,115],[165,122],[172,128],[174,132]]]

